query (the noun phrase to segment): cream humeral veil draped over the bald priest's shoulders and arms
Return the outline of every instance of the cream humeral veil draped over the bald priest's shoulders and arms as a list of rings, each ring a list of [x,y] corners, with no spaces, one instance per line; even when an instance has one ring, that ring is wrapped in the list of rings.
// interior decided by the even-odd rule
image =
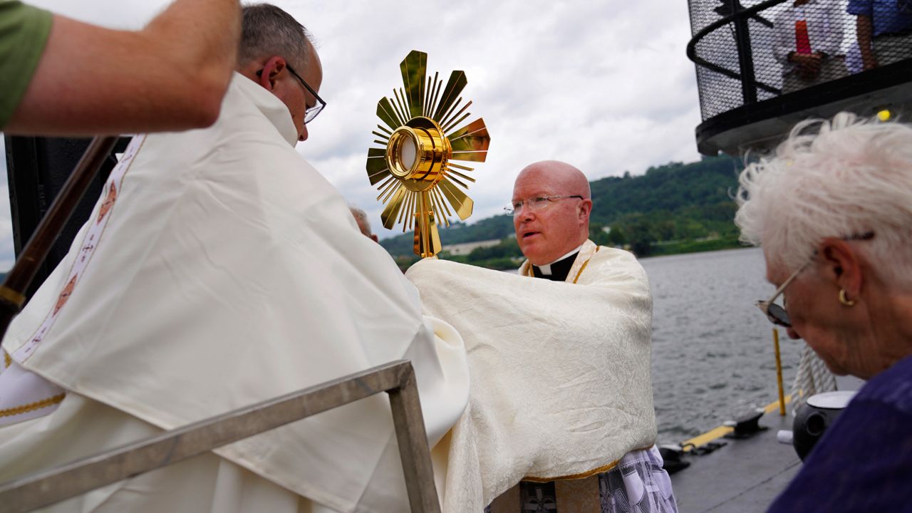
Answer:
[[[481,511],[525,477],[603,472],[655,443],[646,272],[598,249],[580,250],[575,285],[433,259],[409,269],[424,313],[469,355],[469,405],[434,448],[444,513]]]

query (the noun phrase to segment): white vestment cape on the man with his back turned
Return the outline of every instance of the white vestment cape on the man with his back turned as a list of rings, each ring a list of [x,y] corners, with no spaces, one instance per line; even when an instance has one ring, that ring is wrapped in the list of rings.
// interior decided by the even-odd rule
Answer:
[[[240,75],[212,127],[136,139],[116,200],[99,199],[6,334],[5,352],[67,397],[0,428],[0,481],[400,358],[430,443],[447,432],[468,401],[458,333],[422,318],[415,288],[295,139],[285,105]],[[214,453],[61,508],[323,510],[300,495],[408,509],[384,393]]]

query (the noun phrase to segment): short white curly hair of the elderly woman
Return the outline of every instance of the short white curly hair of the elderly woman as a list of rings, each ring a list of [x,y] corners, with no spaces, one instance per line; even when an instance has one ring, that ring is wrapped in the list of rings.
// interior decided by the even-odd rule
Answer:
[[[796,125],[741,172],[735,224],[772,265],[793,270],[825,237],[853,238],[878,275],[912,288],[912,126],[861,119]]]

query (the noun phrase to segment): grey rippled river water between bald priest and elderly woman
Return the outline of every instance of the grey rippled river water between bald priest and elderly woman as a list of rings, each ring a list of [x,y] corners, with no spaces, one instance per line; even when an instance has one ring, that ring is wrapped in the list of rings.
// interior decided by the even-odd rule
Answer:
[[[762,250],[640,260],[653,296],[652,386],[659,443],[679,443],[778,399]],[[789,393],[803,342],[780,329]]]

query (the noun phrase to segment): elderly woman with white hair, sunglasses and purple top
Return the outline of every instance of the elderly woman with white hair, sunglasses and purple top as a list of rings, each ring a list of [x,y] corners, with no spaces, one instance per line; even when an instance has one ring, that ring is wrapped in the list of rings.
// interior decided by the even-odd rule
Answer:
[[[770,510],[908,511],[912,127],[804,122],[741,173],[737,199],[741,238],[762,244],[777,287],[758,306],[831,371],[869,380]]]

